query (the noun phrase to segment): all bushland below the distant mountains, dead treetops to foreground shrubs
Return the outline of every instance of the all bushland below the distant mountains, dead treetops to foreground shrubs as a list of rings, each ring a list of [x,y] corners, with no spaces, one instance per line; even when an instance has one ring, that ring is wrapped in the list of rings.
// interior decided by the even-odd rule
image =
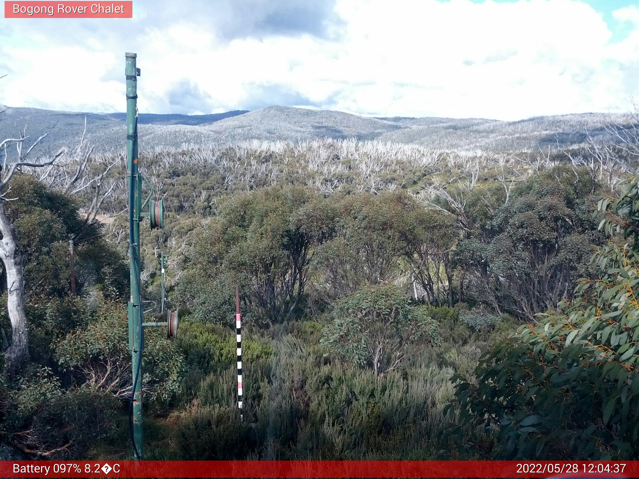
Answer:
[[[143,151],[167,211],[141,228],[143,299],[164,252],[181,316],[175,340],[145,335],[146,459],[636,459],[639,137],[608,133]],[[86,142],[56,161],[6,202],[29,357],[0,382],[3,451],[130,458],[126,165]]]

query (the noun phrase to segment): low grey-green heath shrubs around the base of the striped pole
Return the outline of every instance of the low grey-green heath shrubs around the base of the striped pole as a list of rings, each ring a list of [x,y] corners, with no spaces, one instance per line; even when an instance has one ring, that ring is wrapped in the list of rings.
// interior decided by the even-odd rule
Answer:
[[[268,360],[243,361],[243,422],[237,418],[235,365],[192,383],[194,397],[167,420],[174,448],[164,457],[436,457],[436,431],[445,422],[454,371],[436,364],[440,351],[425,349],[429,355],[416,356],[411,369],[374,376],[327,363],[312,342],[296,338],[299,324],[290,324],[295,334],[277,338]]]

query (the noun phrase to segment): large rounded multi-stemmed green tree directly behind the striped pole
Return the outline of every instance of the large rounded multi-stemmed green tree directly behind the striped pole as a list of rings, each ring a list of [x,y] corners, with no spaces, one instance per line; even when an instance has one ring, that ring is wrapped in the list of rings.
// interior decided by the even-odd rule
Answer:
[[[201,277],[227,275],[270,324],[293,317],[309,280],[311,247],[330,234],[330,209],[304,188],[268,188],[222,205],[194,251]]]

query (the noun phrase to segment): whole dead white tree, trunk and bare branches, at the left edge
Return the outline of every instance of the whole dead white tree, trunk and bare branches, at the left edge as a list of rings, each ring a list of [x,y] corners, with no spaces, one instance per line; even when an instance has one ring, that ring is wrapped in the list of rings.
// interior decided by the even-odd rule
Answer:
[[[29,351],[29,334],[27,331],[27,317],[24,313],[24,269],[22,254],[18,243],[18,236],[12,222],[6,212],[6,203],[17,198],[10,197],[11,188],[9,182],[16,172],[28,168],[42,168],[53,165],[63,151],[59,151],[52,158],[42,162],[28,162],[27,158],[33,149],[40,143],[47,133],[38,138],[29,148],[25,148],[25,142],[29,138],[26,127],[17,138],[8,138],[0,142],[0,149],[4,151],[4,160],[0,174],[0,257],[4,264],[7,284],[7,310],[11,322],[11,345],[4,352],[4,374],[15,374],[27,357]],[[15,146],[17,155],[10,161],[8,147]]]

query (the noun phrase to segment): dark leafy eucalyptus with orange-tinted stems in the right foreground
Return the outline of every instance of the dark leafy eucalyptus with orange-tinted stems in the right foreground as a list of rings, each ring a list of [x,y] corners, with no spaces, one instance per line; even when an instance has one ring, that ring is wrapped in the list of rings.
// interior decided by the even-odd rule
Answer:
[[[635,179],[601,226],[633,236]],[[610,208],[609,208],[610,207]],[[573,301],[497,344],[475,370],[456,376],[461,420],[494,430],[502,458],[632,459],[639,450],[639,252],[607,245],[593,257],[599,278],[583,278]]]

